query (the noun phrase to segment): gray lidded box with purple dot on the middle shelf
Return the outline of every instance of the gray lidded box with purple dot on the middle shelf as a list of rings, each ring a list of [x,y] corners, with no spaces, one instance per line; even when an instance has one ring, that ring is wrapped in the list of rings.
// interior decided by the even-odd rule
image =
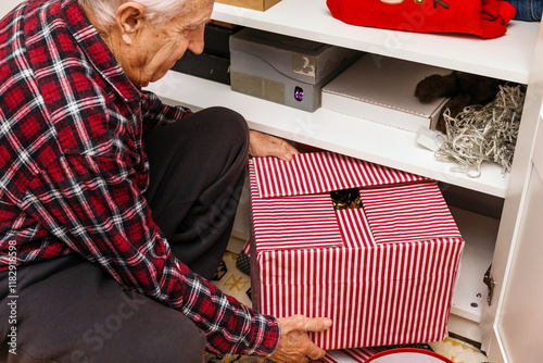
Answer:
[[[358,51],[244,28],[230,37],[232,90],[305,111]]]

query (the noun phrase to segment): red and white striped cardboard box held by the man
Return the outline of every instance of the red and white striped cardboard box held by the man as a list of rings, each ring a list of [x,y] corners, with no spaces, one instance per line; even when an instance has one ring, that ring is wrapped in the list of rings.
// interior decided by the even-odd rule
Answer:
[[[328,316],[323,349],[439,341],[464,241],[437,182],[330,152],[250,161],[253,308]],[[336,210],[356,188],[363,208]]]

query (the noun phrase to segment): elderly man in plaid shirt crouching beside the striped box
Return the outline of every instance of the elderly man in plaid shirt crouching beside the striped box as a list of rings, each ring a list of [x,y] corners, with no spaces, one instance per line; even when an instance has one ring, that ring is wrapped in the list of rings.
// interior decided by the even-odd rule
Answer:
[[[324,354],[306,331],[330,320],[265,316],[204,278],[248,152],[295,150],[232,111],[191,113],[141,89],[202,51],[212,8],[33,0],[1,21],[0,361]]]

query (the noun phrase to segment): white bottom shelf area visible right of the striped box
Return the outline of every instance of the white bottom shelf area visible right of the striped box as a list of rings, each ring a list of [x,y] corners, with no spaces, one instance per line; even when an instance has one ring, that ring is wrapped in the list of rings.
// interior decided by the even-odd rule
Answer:
[[[492,263],[500,221],[459,208],[450,210],[465,241],[451,314],[480,323],[488,292],[482,280]]]

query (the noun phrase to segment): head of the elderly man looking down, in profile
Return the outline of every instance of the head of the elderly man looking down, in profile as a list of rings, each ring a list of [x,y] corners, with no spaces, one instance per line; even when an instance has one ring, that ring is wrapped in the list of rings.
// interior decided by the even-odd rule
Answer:
[[[188,49],[203,50],[213,0],[79,0],[128,78],[162,78]]]

